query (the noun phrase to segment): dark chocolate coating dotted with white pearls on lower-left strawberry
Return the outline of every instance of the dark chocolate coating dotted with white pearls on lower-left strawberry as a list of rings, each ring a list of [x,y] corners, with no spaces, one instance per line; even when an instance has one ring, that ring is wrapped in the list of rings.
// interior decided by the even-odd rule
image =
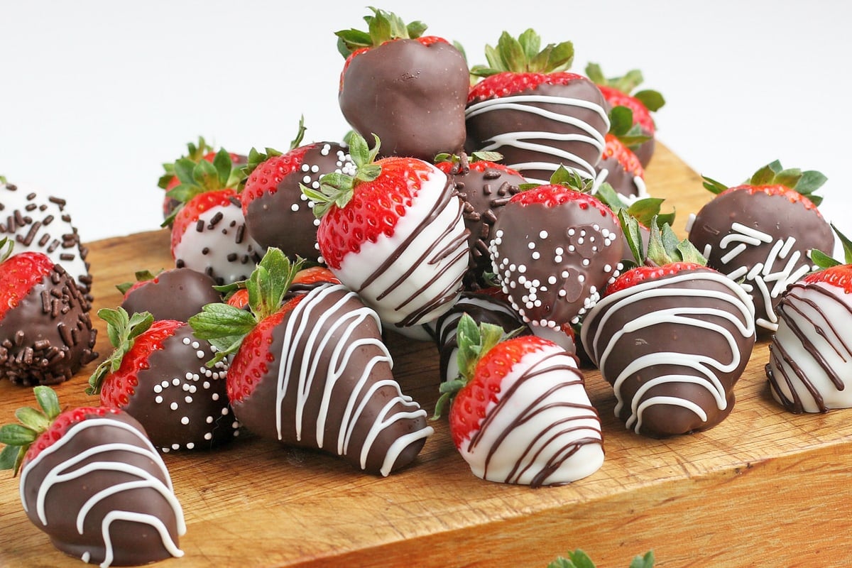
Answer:
[[[239,423],[227,400],[227,363],[205,366],[215,354],[208,341],[182,325],[136,375],[139,383],[124,410],[160,450],[209,450],[237,435]]]

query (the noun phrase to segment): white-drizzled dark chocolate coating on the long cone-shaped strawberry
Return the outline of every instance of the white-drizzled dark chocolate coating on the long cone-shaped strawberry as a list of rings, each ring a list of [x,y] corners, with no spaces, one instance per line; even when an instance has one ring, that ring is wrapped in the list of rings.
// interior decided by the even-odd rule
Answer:
[[[342,284],[310,290],[273,328],[266,378],[233,400],[234,414],[258,435],[367,473],[406,466],[433,430],[394,381],[378,321]]]

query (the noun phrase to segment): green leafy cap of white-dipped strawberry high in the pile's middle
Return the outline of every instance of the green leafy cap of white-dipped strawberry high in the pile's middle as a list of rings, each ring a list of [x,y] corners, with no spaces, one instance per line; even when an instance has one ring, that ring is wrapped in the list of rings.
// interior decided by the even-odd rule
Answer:
[[[302,193],[314,202],[314,215],[319,219],[331,209],[332,205],[338,208],[346,207],[354,196],[355,186],[364,181],[373,181],[382,174],[382,166],[376,164],[379,141],[377,135],[373,135],[375,145],[372,149],[367,145],[363,136],[352,133],[348,137],[349,155],[355,165],[355,175],[331,172],[320,177],[320,189],[311,189],[299,184]]]

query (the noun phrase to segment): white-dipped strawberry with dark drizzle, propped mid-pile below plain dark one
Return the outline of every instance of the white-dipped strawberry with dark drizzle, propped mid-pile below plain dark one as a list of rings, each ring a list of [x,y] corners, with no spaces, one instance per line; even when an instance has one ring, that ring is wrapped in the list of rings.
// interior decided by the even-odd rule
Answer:
[[[330,174],[303,187],[321,217],[317,240],[332,273],[401,333],[446,312],[468,269],[468,232],[452,181],[433,164],[390,157],[374,162],[354,135],[354,176]]]

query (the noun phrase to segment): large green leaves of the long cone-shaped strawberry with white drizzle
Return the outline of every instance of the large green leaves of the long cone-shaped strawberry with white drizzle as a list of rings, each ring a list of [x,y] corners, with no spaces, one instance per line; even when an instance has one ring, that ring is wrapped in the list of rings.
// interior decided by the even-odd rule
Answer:
[[[290,290],[296,273],[302,269],[302,259],[290,261],[282,250],[269,247],[249,278],[237,287],[245,288],[248,303],[244,309],[224,302],[213,302],[187,322],[199,339],[216,347],[216,356],[207,362],[213,366],[236,353],[245,336],[264,319],[277,313]]]

